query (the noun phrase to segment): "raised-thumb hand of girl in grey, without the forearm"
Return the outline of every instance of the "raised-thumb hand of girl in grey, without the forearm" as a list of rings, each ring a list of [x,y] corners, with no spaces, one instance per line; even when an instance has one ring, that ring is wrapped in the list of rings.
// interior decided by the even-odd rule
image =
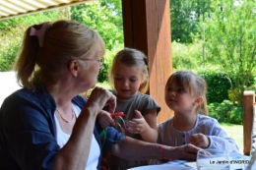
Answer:
[[[135,110],[135,117],[126,124],[129,133],[142,134],[150,128],[140,111]]]

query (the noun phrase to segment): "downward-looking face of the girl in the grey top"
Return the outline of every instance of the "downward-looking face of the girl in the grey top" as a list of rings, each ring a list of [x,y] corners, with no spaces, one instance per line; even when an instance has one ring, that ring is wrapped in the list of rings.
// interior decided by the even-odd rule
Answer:
[[[113,77],[118,99],[133,97],[143,83],[141,69],[136,66],[119,64]]]

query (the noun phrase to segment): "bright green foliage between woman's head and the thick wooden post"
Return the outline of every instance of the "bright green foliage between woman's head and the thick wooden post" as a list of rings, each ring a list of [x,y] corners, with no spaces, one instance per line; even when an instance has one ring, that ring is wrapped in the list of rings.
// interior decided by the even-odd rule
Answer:
[[[113,52],[123,47],[123,25],[121,1],[99,0],[93,3],[71,7],[71,19],[96,29],[102,36],[105,46],[105,63],[98,75],[98,82],[107,81],[107,72],[114,56]]]

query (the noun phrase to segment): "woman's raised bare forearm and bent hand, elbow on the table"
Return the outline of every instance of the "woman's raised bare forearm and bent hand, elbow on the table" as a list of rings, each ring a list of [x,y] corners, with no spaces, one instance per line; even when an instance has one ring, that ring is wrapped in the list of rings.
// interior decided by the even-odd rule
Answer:
[[[109,104],[110,111],[116,106],[115,96],[96,87],[82,110],[69,141],[58,151],[53,169],[85,169],[93,138],[96,115]]]

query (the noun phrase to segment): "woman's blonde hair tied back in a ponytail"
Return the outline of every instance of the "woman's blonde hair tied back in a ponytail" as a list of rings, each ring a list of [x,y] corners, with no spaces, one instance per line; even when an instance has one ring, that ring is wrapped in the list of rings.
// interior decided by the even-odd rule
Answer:
[[[96,50],[99,44],[101,56],[105,45],[101,36],[93,29],[71,20],[48,23],[43,45],[37,36],[30,35],[31,28],[40,29],[43,24],[27,28],[19,59],[15,66],[18,83],[35,88],[37,85],[58,85],[65,79],[68,64],[72,60],[82,62]]]

